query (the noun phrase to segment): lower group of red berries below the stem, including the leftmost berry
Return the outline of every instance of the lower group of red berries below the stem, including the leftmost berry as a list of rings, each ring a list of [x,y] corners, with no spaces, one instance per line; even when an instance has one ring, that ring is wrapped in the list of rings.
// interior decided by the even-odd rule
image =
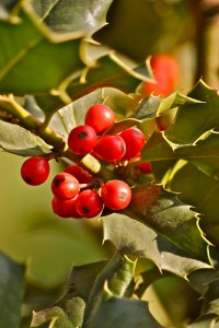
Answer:
[[[49,175],[48,160],[43,156],[27,159],[21,167],[22,178],[32,186],[43,184]],[[84,168],[72,164],[58,173],[51,181],[51,207],[60,218],[94,218],[103,207],[125,209],[131,199],[131,189],[123,180],[96,184]]]

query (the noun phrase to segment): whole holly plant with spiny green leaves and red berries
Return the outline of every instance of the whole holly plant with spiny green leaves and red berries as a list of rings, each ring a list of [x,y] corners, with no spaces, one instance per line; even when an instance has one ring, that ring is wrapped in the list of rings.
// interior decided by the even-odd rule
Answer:
[[[154,17],[173,9],[148,2]],[[60,230],[83,222],[105,249],[53,291],[2,249],[1,328],[217,327],[219,95],[201,75],[177,89],[169,49],[139,61],[102,42],[113,5],[1,4],[1,150],[21,157],[13,171],[30,195],[49,185]]]

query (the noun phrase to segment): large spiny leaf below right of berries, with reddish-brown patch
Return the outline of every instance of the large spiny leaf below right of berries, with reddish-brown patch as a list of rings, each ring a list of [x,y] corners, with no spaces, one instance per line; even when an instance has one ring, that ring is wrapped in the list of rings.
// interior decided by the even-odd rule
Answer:
[[[209,266],[197,214],[161,185],[134,188],[129,208],[102,220],[104,241],[122,254],[142,254],[161,270],[182,277]]]

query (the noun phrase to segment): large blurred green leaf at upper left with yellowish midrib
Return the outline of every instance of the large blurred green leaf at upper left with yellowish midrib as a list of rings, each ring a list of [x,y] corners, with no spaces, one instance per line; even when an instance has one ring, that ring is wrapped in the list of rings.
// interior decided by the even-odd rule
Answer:
[[[80,38],[53,43],[24,12],[20,24],[0,22],[0,28],[1,93],[49,95],[69,74],[84,67],[79,56]]]

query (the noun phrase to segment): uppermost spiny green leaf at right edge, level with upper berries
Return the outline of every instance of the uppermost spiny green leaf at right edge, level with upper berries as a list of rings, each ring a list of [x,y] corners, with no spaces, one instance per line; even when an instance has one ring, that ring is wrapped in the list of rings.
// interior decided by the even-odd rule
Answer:
[[[200,80],[188,95],[205,103],[178,108],[174,125],[165,132],[166,139],[174,148],[193,144],[206,131],[215,129],[219,122],[219,95],[216,90]]]

